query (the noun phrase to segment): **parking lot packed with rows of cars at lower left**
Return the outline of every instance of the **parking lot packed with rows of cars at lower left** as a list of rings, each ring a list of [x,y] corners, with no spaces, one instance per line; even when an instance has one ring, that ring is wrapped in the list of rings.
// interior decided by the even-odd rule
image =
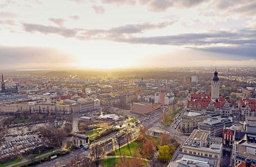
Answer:
[[[42,146],[39,138],[39,132],[28,132],[24,134],[11,134],[3,137],[2,146],[0,147],[1,157],[22,154]]]

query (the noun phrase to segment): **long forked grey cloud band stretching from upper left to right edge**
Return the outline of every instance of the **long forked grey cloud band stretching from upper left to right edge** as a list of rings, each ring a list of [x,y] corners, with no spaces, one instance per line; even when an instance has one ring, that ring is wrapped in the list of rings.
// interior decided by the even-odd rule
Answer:
[[[200,51],[255,57],[256,29],[222,30],[164,36],[137,36],[150,29],[160,29],[174,22],[137,23],[110,29],[69,29],[65,27],[23,24],[27,32],[59,34],[80,40],[109,40],[129,44],[170,45]]]

